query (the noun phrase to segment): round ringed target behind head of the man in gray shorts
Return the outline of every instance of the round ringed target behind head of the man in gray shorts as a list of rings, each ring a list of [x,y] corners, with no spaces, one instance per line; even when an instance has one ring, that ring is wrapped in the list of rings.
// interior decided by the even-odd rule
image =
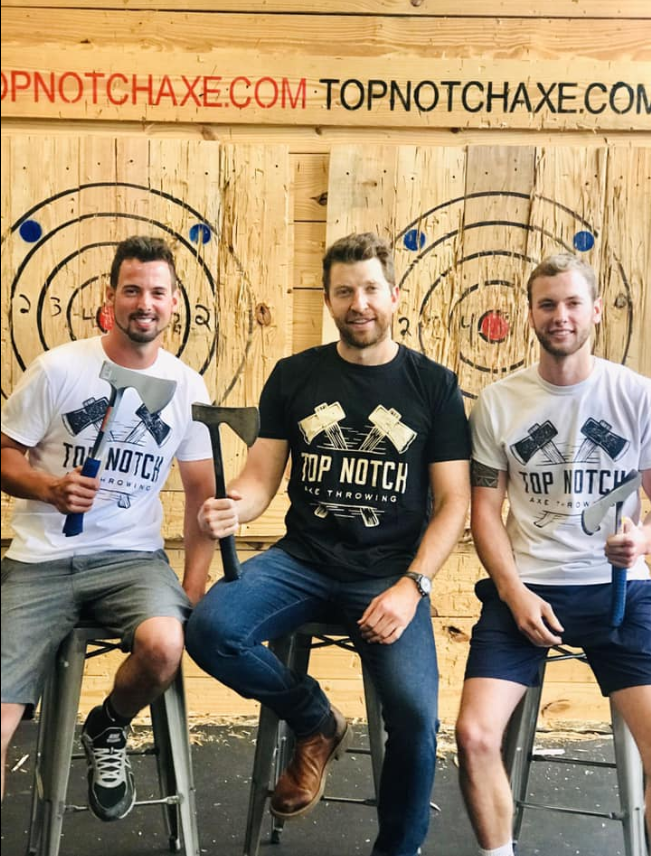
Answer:
[[[115,191],[131,213],[97,210],[97,194]],[[147,214],[138,213],[145,208]],[[95,209],[95,210],[93,210]],[[77,212],[92,213],[77,213]],[[71,216],[72,215],[72,216]],[[115,238],[90,239],[128,225]],[[215,371],[220,337],[220,294],[213,271],[219,253],[229,252],[242,285],[239,316],[241,359],[232,377],[220,378],[223,401],[244,371],[253,341],[255,301],[249,278],[232,248],[220,245],[219,229],[182,199],[131,182],[93,182],[68,188],[32,206],[2,238],[3,268],[12,268],[8,329],[13,375],[43,350],[65,341],[106,332],[111,319],[104,307],[112,251],[128,234],[152,234],[172,246],[178,274],[179,308],[165,333],[165,347],[206,375]],[[14,272],[15,271],[15,272]],[[99,273],[98,273],[99,272]],[[34,282],[40,282],[35,290]],[[209,384],[209,388],[212,384]],[[2,394],[7,396],[4,381]]]

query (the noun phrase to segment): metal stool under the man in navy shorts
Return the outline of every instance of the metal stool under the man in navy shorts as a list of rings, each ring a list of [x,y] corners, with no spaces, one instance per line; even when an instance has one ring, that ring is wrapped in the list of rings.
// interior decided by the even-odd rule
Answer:
[[[558,660],[584,660],[585,654],[570,651],[561,646],[552,649],[540,667],[540,684],[530,687],[522,701],[515,709],[509,723],[504,743],[504,763],[511,780],[515,814],[513,821],[513,839],[518,840],[525,809],[547,809],[562,811],[569,814],[583,814],[592,817],[602,817],[608,820],[619,820],[624,832],[624,848],[626,856],[647,856],[644,831],[644,782],[642,760],[637,746],[626,723],[615,707],[610,706],[615,763],[608,761],[590,761],[576,758],[558,758],[546,756],[544,752],[533,751],[536,736],[536,723],[540,710],[542,683],[548,662]],[[527,786],[529,772],[533,761],[544,761],[548,764],[580,764],[587,767],[607,767],[617,769],[619,783],[619,811],[598,812],[586,811],[567,806],[543,805],[527,801]]]

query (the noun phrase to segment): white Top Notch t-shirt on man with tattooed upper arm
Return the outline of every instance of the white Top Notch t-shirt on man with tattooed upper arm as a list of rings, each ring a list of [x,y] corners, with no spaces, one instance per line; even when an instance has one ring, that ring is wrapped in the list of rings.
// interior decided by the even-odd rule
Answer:
[[[554,386],[536,365],[486,387],[470,426],[473,458],[508,473],[506,528],[522,580],[610,582],[604,545],[615,529],[615,508],[592,536],[581,513],[631,469],[651,468],[651,381],[596,358],[585,381]],[[622,512],[639,521],[638,494]],[[628,577],[648,576],[640,557]]]

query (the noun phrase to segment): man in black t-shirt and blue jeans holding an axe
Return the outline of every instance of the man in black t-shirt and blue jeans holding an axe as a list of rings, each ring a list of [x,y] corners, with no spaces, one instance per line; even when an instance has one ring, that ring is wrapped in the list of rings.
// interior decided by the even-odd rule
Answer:
[[[388,734],[372,856],[415,856],[429,821],[438,671],[431,579],[469,502],[470,446],[454,374],[392,339],[399,291],[376,235],[349,235],[323,260],[339,341],[280,360],[260,401],[260,437],[228,499],[199,514],[214,538],[275,496],[291,455],[286,535],[218,583],[187,630],[207,672],[285,719],[296,735],[271,811],[288,820],[320,799],[349,728],[309,675],[262,643],[336,610],[373,678]]]

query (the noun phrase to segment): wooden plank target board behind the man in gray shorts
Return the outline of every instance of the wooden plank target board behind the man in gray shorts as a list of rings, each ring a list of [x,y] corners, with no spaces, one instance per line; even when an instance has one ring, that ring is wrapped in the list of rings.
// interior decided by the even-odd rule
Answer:
[[[181,300],[165,347],[217,404],[257,405],[291,348],[285,146],[130,137],[2,138],[2,396],[42,351],[99,335],[115,247],[164,238]],[[229,476],[246,448],[224,432]],[[3,498],[3,522],[7,503]],[[182,533],[174,473],[165,536]]]

